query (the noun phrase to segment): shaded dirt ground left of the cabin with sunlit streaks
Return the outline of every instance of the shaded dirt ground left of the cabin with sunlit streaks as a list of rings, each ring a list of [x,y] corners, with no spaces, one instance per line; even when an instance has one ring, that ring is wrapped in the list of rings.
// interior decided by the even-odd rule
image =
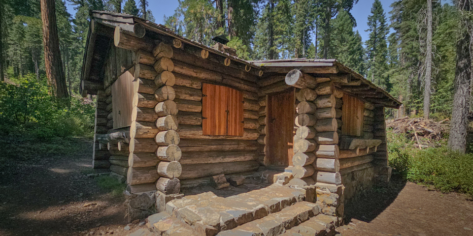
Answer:
[[[91,141],[78,142],[79,153],[28,162],[10,159],[0,165],[0,236],[130,233],[123,230],[122,197],[107,193],[84,174],[92,164]]]

